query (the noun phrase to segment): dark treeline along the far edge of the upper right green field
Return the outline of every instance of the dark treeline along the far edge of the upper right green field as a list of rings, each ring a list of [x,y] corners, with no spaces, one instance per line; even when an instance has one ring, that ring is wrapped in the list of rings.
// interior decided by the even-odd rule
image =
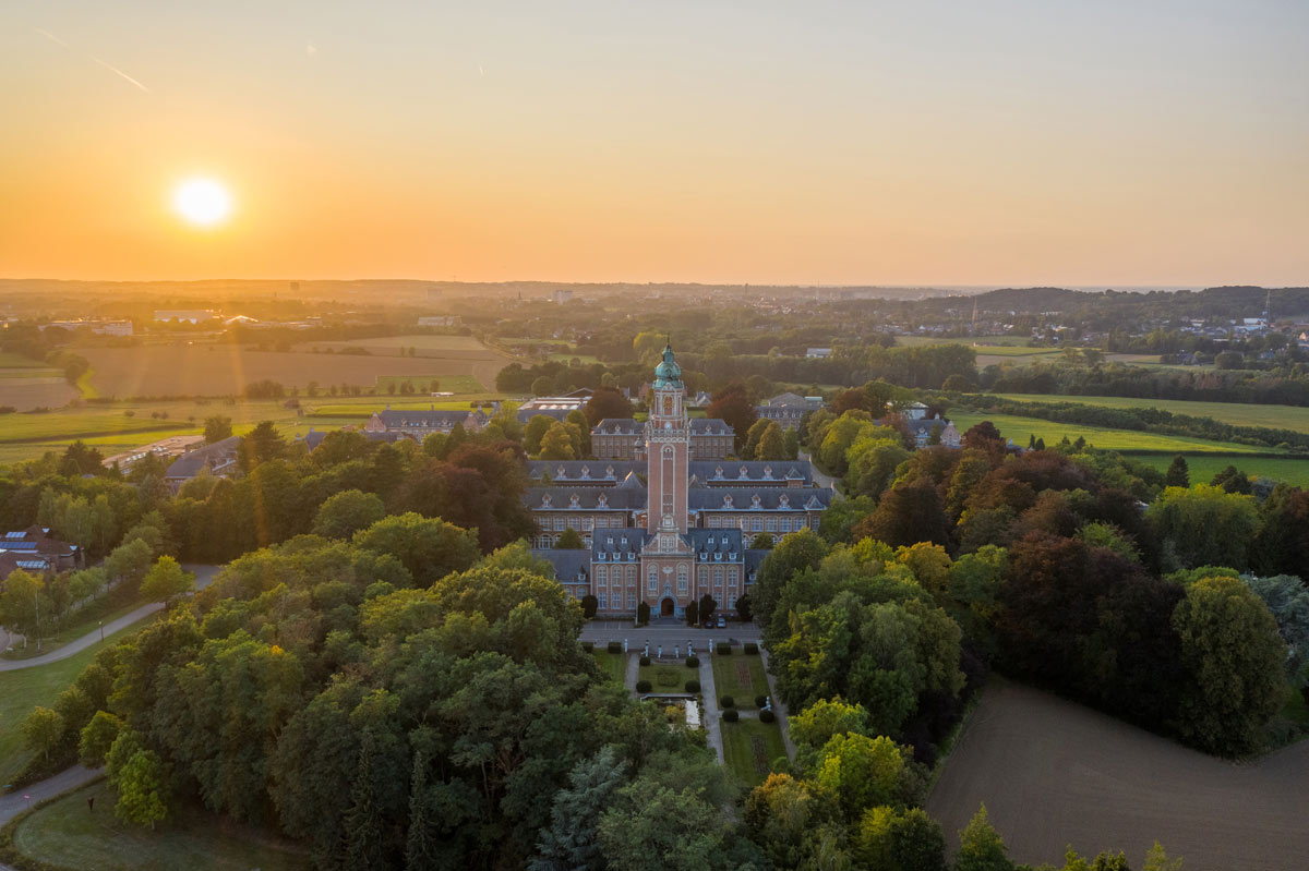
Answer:
[[[1302,364],[1279,373],[1221,371],[1200,369],[1147,369],[997,364],[982,370],[982,390],[997,394],[1066,394],[1085,396],[1136,396],[1145,399],[1191,399],[1215,403],[1309,405],[1309,367]]]

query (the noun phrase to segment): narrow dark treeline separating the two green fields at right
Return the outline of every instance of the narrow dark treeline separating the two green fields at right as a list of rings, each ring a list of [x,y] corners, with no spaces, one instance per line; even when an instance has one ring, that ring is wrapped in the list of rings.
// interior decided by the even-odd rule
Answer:
[[[977,394],[961,396],[959,404],[997,415],[1039,417],[1060,424],[1083,424],[1109,429],[1130,429],[1161,435],[1186,435],[1215,442],[1236,442],[1261,447],[1296,449],[1309,451],[1309,434],[1293,429],[1268,426],[1241,426],[1225,424],[1212,417],[1178,415],[1160,408],[1109,408],[1085,403],[1013,401],[1000,396]]]

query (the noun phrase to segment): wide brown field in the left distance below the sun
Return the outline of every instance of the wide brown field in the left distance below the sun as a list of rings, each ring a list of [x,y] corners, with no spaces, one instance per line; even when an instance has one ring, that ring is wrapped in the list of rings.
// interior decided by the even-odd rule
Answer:
[[[310,381],[372,387],[378,375],[437,378],[471,375],[495,384],[505,358],[493,352],[391,357],[250,350],[224,344],[88,348],[92,384],[101,396],[230,396],[253,381],[270,378],[288,387]],[[487,381],[490,378],[490,381]]]

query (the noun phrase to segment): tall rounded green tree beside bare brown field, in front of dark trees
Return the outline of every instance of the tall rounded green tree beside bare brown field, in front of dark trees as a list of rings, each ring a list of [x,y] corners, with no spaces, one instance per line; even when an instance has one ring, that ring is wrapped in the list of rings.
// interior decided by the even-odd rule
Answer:
[[[1187,587],[1173,628],[1190,675],[1178,732],[1215,753],[1253,751],[1285,694],[1287,645],[1272,613],[1238,578],[1204,578]]]

